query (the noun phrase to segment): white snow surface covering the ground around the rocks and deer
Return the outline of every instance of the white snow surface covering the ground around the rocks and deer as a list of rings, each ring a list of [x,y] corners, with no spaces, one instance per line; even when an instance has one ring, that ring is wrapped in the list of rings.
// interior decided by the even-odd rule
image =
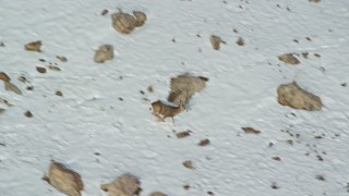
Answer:
[[[148,19],[121,35],[110,17],[119,9]],[[142,196],[349,195],[348,0],[3,0],[0,19],[0,71],[23,91],[0,84],[0,98],[13,105],[0,105],[1,196],[63,195],[41,180],[51,160],[82,175],[83,196],[107,195],[99,185],[123,173],[140,179]],[[214,50],[210,35],[227,44]],[[24,50],[35,40],[43,52]],[[97,64],[103,44],[116,57]],[[289,52],[301,63],[278,60]],[[61,72],[36,71],[49,63]],[[157,122],[151,102],[166,100],[170,77],[185,72],[208,77],[207,87],[174,124]],[[323,109],[280,106],[276,88],[292,81]],[[186,130],[185,138],[173,133]],[[198,146],[204,138],[210,144]]]

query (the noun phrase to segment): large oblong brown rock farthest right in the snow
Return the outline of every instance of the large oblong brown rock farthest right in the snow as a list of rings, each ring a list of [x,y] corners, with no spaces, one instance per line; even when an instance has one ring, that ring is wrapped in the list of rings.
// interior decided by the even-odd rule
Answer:
[[[298,86],[296,82],[280,85],[277,88],[278,102],[294,109],[308,111],[321,110],[321,98]]]

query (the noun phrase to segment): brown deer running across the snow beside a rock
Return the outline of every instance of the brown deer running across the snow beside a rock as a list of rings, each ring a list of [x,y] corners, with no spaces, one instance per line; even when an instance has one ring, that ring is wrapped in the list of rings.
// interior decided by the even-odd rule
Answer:
[[[153,112],[158,121],[164,122],[166,118],[170,117],[172,123],[174,123],[173,117],[185,110],[184,103],[180,103],[178,107],[166,105],[160,100],[152,102]],[[163,117],[161,117],[163,115]]]

